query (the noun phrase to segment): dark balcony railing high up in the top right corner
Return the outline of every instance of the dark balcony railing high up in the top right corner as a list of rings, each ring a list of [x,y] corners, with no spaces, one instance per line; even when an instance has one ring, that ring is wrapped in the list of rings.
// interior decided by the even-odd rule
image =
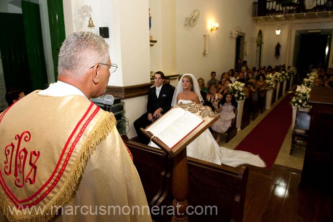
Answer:
[[[252,16],[332,11],[333,0],[276,0],[253,3]]]

